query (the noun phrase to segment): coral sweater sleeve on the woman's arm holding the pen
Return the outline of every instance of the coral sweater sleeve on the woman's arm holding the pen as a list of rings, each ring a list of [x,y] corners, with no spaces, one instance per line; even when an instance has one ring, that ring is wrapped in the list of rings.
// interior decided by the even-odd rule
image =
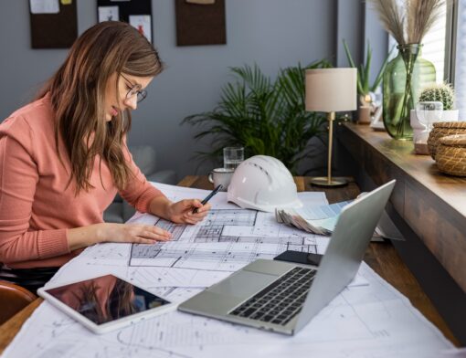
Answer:
[[[135,207],[137,211],[147,213],[149,212],[150,204],[154,198],[164,194],[147,181],[145,175],[141,172],[136,163],[134,163],[132,154],[126,145],[126,141],[124,142],[123,152],[126,161],[130,164],[132,176],[124,190],[120,191],[120,195],[122,195],[122,198],[130,203],[130,205]]]

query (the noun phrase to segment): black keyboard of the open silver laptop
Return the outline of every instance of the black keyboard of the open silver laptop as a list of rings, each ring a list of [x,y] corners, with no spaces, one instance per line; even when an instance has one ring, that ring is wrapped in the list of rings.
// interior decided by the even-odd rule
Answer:
[[[316,272],[291,269],[228,314],[285,325],[302,310]]]

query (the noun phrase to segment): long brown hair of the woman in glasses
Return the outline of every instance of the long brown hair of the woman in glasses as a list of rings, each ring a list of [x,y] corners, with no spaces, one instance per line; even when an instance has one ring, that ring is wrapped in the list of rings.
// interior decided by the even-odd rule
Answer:
[[[123,155],[124,135],[131,115],[124,111],[104,121],[104,94],[112,74],[154,77],[163,70],[157,51],[129,24],[108,21],[90,27],[73,44],[69,56],[41,89],[50,92],[55,112],[55,140],[61,136],[69,155],[69,184],[76,181],[76,195],[92,188],[90,175],[96,155],[109,165],[113,182],[122,189],[132,175]],[[118,88],[118,79],[115,87]],[[118,96],[118,90],[116,91]],[[120,99],[117,99],[120,100]]]

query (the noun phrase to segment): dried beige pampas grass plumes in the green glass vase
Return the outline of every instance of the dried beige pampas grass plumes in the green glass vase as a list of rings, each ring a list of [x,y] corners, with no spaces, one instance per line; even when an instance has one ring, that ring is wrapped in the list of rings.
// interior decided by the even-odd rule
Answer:
[[[398,45],[420,44],[445,5],[445,0],[368,1],[374,5],[383,26]]]

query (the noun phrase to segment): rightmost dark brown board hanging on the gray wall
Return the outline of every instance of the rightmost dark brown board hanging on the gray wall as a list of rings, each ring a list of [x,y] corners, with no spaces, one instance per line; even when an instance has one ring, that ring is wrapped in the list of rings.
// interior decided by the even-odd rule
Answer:
[[[224,45],[227,43],[225,0],[198,5],[175,0],[176,45]]]

